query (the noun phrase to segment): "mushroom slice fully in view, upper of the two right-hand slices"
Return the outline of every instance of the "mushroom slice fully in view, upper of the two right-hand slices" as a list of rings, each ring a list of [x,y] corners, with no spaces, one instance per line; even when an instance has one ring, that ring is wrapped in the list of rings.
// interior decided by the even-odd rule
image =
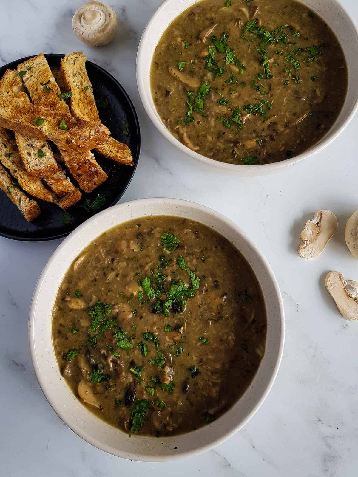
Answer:
[[[301,243],[297,248],[303,259],[314,259],[325,249],[329,239],[337,230],[337,217],[330,210],[318,210],[312,220],[307,220],[300,234]]]

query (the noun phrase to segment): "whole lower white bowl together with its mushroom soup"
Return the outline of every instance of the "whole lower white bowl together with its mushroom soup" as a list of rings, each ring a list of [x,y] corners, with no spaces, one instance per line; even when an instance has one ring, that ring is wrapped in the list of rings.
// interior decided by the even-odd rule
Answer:
[[[136,460],[234,434],[270,390],[283,341],[282,299],[258,249],[220,214],[175,199],[111,207],[76,229],[30,312],[53,409],[88,442]]]

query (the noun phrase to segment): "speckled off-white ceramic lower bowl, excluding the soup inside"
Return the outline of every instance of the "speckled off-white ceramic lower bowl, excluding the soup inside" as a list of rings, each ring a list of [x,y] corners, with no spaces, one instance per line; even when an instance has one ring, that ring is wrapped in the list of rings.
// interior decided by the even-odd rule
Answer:
[[[266,351],[253,383],[242,398],[210,425],[181,436],[129,438],[98,419],[74,397],[60,374],[52,343],[51,312],[57,291],[73,260],[98,235],[127,220],[147,215],[175,215],[197,220],[229,239],[249,261],[267,310]],[[153,198],[107,208],[76,228],[55,250],[37,283],[30,308],[32,362],[43,394],[56,414],[90,444],[132,460],[165,461],[192,456],[233,436],[263,403],[276,377],[284,347],[284,309],[274,274],[262,253],[240,228],[218,212],[193,202]]]

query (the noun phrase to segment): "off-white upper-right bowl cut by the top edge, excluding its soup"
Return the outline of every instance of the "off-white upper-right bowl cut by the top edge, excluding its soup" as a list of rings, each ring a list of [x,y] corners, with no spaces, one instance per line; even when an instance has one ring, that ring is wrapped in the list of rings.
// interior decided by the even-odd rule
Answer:
[[[185,154],[188,154],[193,159],[196,159],[207,166],[219,167],[222,171],[235,172],[241,176],[263,176],[282,171],[286,167],[312,156],[317,151],[320,151],[329,145],[342,133],[358,109],[358,29],[352,17],[338,0],[301,0],[302,3],[318,13],[327,22],[337,35],[346,55],[348,67],[347,97],[336,122],[331,129],[327,131],[326,135],[324,135],[316,145],[292,159],[286,159],[281,162],[263,166],[233,165],[209,159],[208,157],[192,151],[171,135],[157,113],[150,92],[149,74],[151,59],[160,37],[170,23],[182,11],[196,3],[196,1],[197,0],[164,1],[148,21],[138,47],[137,84],[139,95],[152,123],[157,127],[158,131],[168,139],[168,141],[178,147],[178,149]]]

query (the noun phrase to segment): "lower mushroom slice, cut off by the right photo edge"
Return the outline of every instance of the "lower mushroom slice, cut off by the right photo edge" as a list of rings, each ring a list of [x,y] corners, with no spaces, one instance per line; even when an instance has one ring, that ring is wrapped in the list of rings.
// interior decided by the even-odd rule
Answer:
[[[358,321],[358,282],[346,281],[338,271],[330,271],[325,284],[343,318]]]

